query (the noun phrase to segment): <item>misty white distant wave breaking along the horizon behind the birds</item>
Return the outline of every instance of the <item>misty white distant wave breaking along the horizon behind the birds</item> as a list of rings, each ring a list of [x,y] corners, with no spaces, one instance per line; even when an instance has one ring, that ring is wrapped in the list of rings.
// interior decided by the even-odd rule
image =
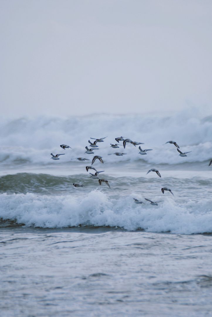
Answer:
[[[182,164],[184,162],[203,162],[211,159],[212,153],[212,117],[202,117],[197,109],[191,108],[173,114],[158,115],[93,115],[70,117],[68,119],[39,117],[21,118],[1,122],[0,128],[0,164],[62,164],[73,163],[72,158],[87,157],[85,146],[90,137],[105,137],[99,143],[98,155],[106,162],[144,160],[154,164]],[[144,149],[153,149],[147,155],[138,154],[138,146],[127,145],[123,157],[107,155],[116,152],[110,148],[115,137],[124,136],[145,143]],[[174,145],[164,143],[177,141],[187,157],[179,157]],[[67,144],[73,150],[63,150],[60,144]],[[123,147],[117,151],[123,152]],[[52,161],[50,153],[65,153],[59,161]]]

